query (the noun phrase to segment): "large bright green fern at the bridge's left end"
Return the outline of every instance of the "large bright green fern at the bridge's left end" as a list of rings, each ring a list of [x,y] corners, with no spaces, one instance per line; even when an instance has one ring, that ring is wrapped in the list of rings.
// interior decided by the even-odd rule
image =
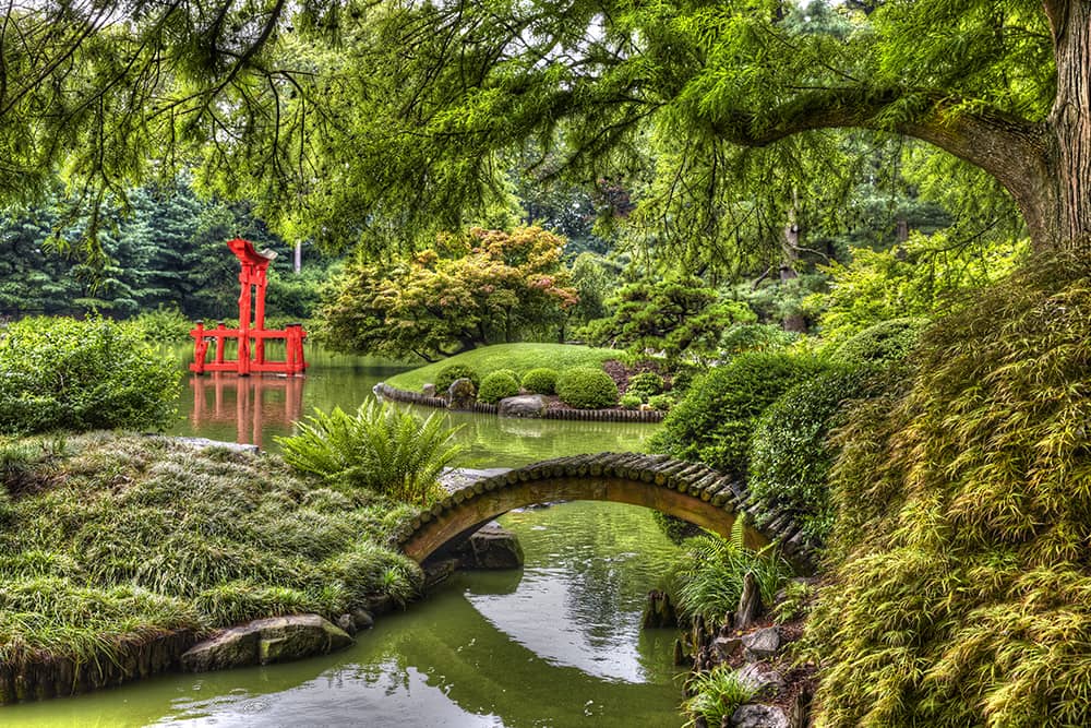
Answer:
[[[453,442],[457,428],[447,428],[439,414],[422,420],[374,401],[356,415],[315,409],[297,428],[298,434],[277,438],[296,469],[419,505],[436,497],[436,478],[461,452]]]

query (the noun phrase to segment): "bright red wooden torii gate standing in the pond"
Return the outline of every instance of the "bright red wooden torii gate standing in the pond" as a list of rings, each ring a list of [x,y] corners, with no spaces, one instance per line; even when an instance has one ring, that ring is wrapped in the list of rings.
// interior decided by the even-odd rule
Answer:
[[[239,327],[226,329],[219,322],[215,329],[205,329],[203,321],[190,332],[194,338],[193,363],[190,371],[203,374],[206,371],[233,371],[240,377],[251,373],[273,372],[277,374],[302,374],[307,369],[303,358],[303,339],[307,332],[302,324],[290,323],[285,329],[265,329],[265,286],[266,271],[276,253],[269,250],[257,252],[249,240],[236,238],[229,240],[227,247],[242,264],[239,272]],[[253,288],[253,293],[251,293]],[[251,303],[253,303],[253,325],[251,325]],[[235,360],[224,358],[224,344],[233,338],[238,342],[238,357]],[[285,343],[284,361],[265,360],[265,342],[280,341]],[[206,362],[208,344],[216,343],[213,361]]]

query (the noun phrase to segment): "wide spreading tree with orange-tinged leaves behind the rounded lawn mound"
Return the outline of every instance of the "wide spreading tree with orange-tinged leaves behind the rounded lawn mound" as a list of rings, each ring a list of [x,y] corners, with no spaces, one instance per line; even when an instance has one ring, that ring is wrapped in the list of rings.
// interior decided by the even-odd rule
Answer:
[[[337,350],[434,361],[488,344],[556,339],[576,303],[564,239],[471,228],[429,250],[346,266],[322,311]]]

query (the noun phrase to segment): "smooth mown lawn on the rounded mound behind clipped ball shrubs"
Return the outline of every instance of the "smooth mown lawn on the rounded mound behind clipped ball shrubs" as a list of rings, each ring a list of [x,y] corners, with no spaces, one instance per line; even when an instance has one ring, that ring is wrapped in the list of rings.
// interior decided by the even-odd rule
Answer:
[[[496,344],[463,351],[443,361],[395,374],[386,383],[399,390],[419,392],[427,382],[435,381],[436,372],[455,363],[473,369],[482,378],[497,369],[512,369],[521,377],[538,367],[549,367],[558,372],[573,367],[598,367],[603,361],[620,359],[624,355],[619,349],[597,349],[572,344]]]

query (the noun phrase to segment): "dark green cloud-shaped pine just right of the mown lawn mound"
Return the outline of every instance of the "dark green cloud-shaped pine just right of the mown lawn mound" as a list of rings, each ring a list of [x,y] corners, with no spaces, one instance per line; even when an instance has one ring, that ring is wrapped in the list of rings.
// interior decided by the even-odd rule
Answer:
[[[721,300],[695,276],[626,284],[607,303],[613,314],[590,322],[580,337],[635,353],[662,350],[670,358],[712,356],[721,331],[755,318],[745,303]]]

